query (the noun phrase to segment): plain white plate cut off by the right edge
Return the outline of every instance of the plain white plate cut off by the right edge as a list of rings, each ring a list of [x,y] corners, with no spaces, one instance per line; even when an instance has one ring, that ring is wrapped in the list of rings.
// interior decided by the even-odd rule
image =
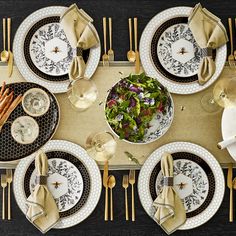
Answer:
[[[236,135],[236,108],[225,108],[221,120],[221,132],[223,140],[232,138]],[[236,160],[236,143],[232,143],[227,147],[231,157]]]

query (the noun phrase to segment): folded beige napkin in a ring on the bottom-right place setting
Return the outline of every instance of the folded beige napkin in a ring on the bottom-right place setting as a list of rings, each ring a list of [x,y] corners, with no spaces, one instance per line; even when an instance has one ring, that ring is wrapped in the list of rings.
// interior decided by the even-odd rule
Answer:
[[[173,158],[169,153],[164,153],[162,156],[161,171],[164,185],[153,203],[156,209],[154,218],[167,234],[171,234],[185,223],[186,212],[173,188]]]

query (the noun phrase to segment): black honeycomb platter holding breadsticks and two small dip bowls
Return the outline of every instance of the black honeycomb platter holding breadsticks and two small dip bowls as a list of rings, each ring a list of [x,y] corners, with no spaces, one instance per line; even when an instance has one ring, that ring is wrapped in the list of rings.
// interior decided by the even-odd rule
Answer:
[[[15,96],[24,94],[26,91],[32,88],[42,89],[47,93],[50,100],[50,106],[48,111],[39,117],[34,117],[34,120],[39,126],[39,134],[37,138],[29,144],[20,144],[15,141],[11,134],[12,123],[19,117],[28,116],[25,113],[22,104],[20,103],[16,109],[11,113],[7,122],[4,124],[2,131],[0,132],[0,161],[10,162],[22,159],[38,149],[40,149],[46,142],[48,142],[54,133],[60,120],[60,108],[56,97],[46,88],[41,85],[29,82],[20,82],[6,85],[10,90],[14,90]],[[33,118],[32,118],[33,119]]]

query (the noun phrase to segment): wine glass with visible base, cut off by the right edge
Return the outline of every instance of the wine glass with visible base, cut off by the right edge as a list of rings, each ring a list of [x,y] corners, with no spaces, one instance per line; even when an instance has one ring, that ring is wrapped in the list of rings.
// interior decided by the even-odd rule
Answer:
[[[236,79],[218,81],[213,88],[213,93],[207,93],[202,97],[201,105],[207,112],[216,112],[220,107],[236,106]]]

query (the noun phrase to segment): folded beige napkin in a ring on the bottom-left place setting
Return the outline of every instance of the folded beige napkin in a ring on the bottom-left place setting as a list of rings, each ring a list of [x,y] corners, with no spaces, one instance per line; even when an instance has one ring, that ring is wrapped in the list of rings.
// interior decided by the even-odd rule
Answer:
[[[42,151],[35,158],[35,168],[38,183],[26,200],[26,217],[42,233],[46,233],[60,217],[55,200],[47,188],[48,160]]]

